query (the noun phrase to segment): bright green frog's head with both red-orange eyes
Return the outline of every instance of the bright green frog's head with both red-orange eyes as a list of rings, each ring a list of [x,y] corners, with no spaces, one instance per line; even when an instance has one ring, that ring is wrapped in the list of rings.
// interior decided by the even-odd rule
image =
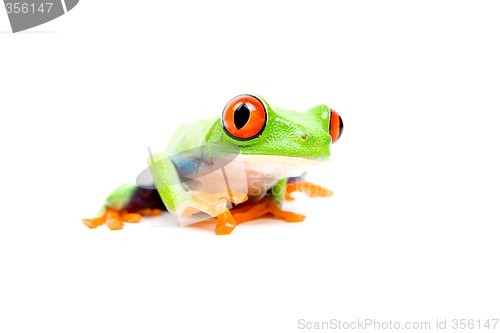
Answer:
[[[301,113],[269,105],[260,96],[239,95],[226,104],[209,136],[239,146],[246,155],[323,160],[342,129],[340,116],[324,104]]]

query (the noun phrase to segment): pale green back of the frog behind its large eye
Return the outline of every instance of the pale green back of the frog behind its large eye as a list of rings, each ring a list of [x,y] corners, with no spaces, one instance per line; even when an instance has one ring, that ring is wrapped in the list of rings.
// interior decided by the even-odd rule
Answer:
[[[219,118],[210,118],[181,125],[168,143],[166,152],[178,154],[204,145],[207,134],[218,121],[220,121]]]

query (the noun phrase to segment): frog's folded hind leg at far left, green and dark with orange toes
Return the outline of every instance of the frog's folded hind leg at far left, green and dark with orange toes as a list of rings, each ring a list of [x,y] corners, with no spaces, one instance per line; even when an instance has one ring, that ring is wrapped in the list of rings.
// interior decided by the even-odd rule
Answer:
[[[106,224],[111,230],[119,230],[124,222],[137,223],[143,216],[158,216],[165,210],[156,189],[125,184],[111,193],[98,217],[84,219],[83,223],[91,229]]]

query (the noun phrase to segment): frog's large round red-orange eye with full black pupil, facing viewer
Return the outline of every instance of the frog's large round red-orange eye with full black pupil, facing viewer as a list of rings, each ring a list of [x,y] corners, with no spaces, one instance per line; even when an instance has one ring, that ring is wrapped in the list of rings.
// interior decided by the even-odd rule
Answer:
[[[266,126],[264,103],[252,95],[236,96],[227,103],[222,113],[224,130],[233,138],[249,140],[258,136]]]

